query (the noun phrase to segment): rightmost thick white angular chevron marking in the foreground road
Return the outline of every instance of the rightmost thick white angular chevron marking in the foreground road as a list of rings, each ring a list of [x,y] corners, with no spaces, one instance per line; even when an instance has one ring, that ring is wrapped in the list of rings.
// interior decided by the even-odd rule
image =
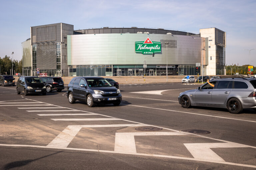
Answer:
[[[218,162],[225,162],[225,160],[210,148],[247,147],[237,143],[184,143],[184,145],[194,158]]]

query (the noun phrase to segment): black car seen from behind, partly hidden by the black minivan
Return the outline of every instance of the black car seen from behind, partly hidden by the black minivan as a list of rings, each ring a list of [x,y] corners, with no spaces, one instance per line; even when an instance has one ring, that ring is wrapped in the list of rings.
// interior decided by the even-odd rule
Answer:
[[[51,92],[52,90],[61,92],[65,88],[61,77],[40,77],[40,79],[45,83],[47,92]]]

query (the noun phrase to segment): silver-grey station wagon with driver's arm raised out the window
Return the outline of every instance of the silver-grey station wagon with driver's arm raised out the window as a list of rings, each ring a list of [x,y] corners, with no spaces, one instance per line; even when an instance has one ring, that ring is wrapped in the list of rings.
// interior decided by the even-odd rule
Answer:
[[[256,78],[222,78],[194,90],[180,93],[178,100],[183,108],[205,106],[227,108],[240,113],[245,108],[256,109]]]

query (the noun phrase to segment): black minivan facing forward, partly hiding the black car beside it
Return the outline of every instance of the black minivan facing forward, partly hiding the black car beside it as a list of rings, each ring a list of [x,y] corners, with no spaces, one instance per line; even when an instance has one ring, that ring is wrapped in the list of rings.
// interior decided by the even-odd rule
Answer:
[[[17,81],[17,94],[24,92],[28,94],[42,94],[46,95],[46,87],[39,77],[35,76],[21,76]]]

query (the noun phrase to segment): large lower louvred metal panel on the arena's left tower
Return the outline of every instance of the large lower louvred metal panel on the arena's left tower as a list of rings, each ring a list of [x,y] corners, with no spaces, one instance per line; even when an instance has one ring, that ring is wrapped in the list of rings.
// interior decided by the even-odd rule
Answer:
[[[56,69],[56,43],[37,44],[36,49],[37,68]]]

